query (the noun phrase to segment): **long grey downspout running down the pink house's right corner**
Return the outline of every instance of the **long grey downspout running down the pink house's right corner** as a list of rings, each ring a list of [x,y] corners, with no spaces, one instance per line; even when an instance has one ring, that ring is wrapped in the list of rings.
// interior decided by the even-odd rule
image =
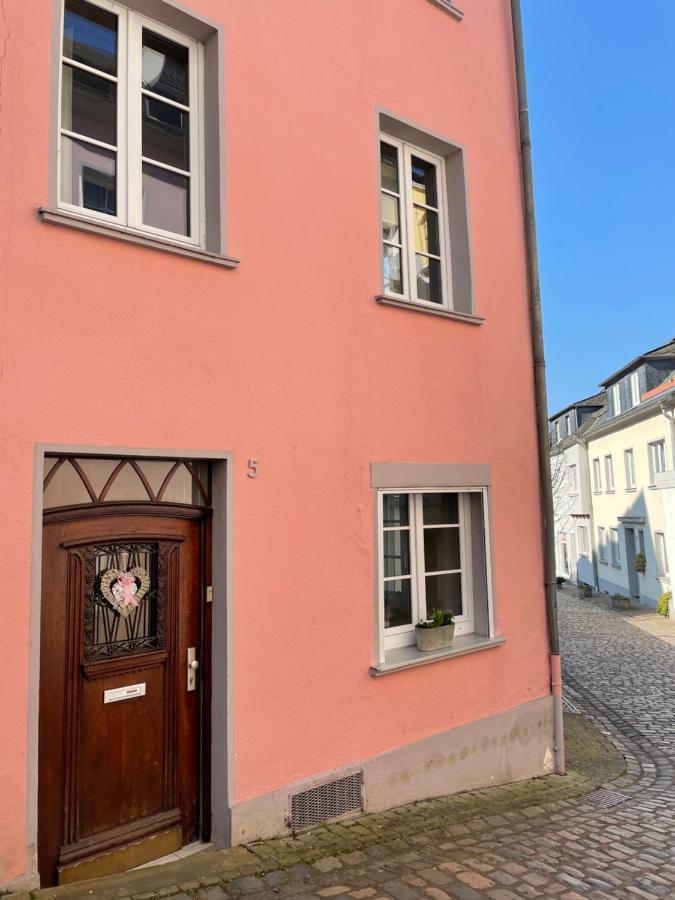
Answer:
[[[542,497],[542,539],[544,549],[544,591],[551,663],[551,693],[553,695],[554,766],[559,775],[565,774],[565,745],[563,735],[562,669],[560,636],[558,632],[557,588],[555,573],[555,543],[553,494],[548,447],[548,413],[546,402],[546,363],[544,361],[544,332],[541,320],[541,290],[539,285],[539,257],[534,214],[534,183],[532,177],[532,141],[527,108],[525,80],[525,48],[520,0],[511,0],[513,49],[518,88],[518,119],[520,123],[520,161],[523,179],[523,212],[527,240],[527,262],[530,300],[532,357],[534,362],[534,390],[539,450],[539,481]]]

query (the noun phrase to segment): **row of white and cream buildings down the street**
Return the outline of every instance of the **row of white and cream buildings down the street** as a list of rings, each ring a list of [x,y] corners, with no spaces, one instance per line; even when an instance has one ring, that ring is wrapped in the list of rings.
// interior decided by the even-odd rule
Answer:
[[[590,399],[604,408],[571,433],[563,435],[561,420],[579,404],[551,419],[554,483],[562,457],[569,485],[557,497],[554,486],[558,569],[655,606],[671,590],[675,562],[675,340],[636,357],[602,387]]]

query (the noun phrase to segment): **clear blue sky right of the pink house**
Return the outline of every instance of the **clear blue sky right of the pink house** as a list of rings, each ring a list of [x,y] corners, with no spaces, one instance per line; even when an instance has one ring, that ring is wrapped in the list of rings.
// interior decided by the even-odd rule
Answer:
[[[675,336],[675,3],[521,2],[553,413]]]

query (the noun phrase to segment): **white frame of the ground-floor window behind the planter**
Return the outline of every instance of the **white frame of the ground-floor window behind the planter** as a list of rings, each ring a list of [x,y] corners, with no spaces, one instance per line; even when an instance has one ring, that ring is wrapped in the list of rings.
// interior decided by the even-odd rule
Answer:
[[[409,527],[391,526],[384,527],[384,497],[387,494],[407,494],[409,496]],[[424,559],[424,529],[429,527],[447,527],[424,525],[422,516],[422,497],[424,494],[457,494],[459,497],[459,535],[460,535],[460,570],[462,574],[462,609],[461,616],[455,616],[455,635],[472,634],[474,631],[474,596],[472,573],[472,540],[471,540],[471,514],[470,494],[480,494],[482,498],[483,512],[483,547],[485,552],[485,573],[487,583],[488,622],[490,636],[493,633],[494,612],[492,608],[492,561],[490,553],[490,530],[488,521],[488,495],[487,489],[482,487],[401,487],[382,488],[377,492],[377,559],[378,559],[378,604],[379,604],[379,631],[380,631],[380,662],[385,661],[385,653],[397,647],[406,647],[415,644],[415,625],[431,613],[426,608],[425,575],[431,574],[424,571],[422,561]],[[396,530],[409,530],[410,533],[410,582],[411,582],[411,623],[398,625],[394,628],[385,628],[384,623],[384,585],[385,581],[399,580],[397,576],[384,575],[384,532]],[[480,552],[476,548],[476,552]]]

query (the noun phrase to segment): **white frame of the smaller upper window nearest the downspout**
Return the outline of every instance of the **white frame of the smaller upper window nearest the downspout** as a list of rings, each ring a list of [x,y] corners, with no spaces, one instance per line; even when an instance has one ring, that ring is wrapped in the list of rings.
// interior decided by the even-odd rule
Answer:
[[[383,273],[382,278],[384,296],[392,297],[396,300],[406,300],[409,303],[415,303],[416,305],[423,306],[427,309],[452,310],[452,268],[450,257],[450,234],[448,231],[448,191],[445,178],[445,160],[443,159],[443,157],[436,156],[433,153],[429,153],[427,150],[422,150],[421,147],[417,147],[414,144],[408,144],[405,141],[398,140],[398,138],[391,137],[391,135],[387,134],[386,132],[380,133],[380,142],[388,144],[390,147],[394,147],[396,149],[398,160],[399,192],[398,194],[396,194],[393,191],[382,187],[382,178],[380,175],[380,195],[387,194],[388,196],[394,197],[398,200],[400,232],[400,243],[396,243],[395,241],[385,241],[382,237],[383,223],[380,214],[380,246],[382,246],[383,244],[387,244],[388,246],[392,247],[400,247],[401,286],[403,289],[403,292],[400,294],[396,291],[392,291],[391,289],[385,289]],[[382,156],[379,145],[378,152],[380,153],[381,173]],[[434,167],[436,172],[436,199],[438,202],[438,207],[434,208],[430,206],[429,210],[436,212],[438,215],[438,243],[441,252],[439,256],[436,256],[433,253],[425,253],[424,255],[440,260],[440,303],[434,303],[431,300],[423,300],[418,298],[417,296],[417,278],[413,274],[417,271],[415,266],[415,236],[413,230],[414,204],[411,178],[411,165],[413,156],[417,156],[420,159],[423,159],[425,162],[430,163]],[[420,204],[417,205],[419,206]],[[381,252],[382,251],[380,250],[380,254]]]

